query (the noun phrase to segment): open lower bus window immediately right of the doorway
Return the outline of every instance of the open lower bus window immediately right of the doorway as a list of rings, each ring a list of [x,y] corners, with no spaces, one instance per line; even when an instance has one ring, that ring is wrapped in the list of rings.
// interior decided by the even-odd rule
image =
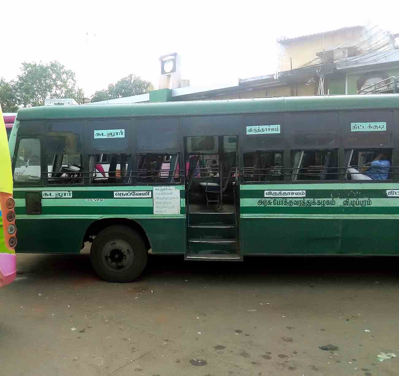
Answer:
[[[243,157],[243,181],[284,180],[282,151],[244,153]]]

